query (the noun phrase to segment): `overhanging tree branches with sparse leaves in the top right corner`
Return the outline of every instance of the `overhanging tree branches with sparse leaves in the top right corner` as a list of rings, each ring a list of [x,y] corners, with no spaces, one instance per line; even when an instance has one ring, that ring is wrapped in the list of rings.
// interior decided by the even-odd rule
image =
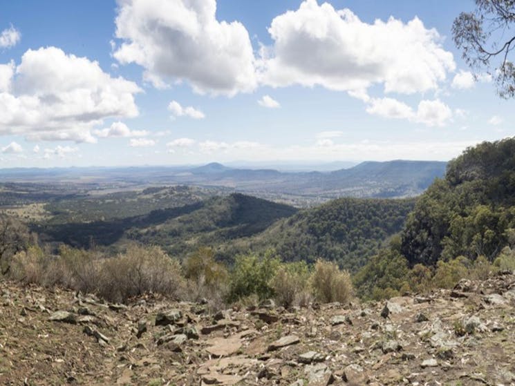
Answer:
[[[486,69],[505,99],[515,97],[515,66],[509,57],[515,47],[514,26],[514,0],[476,0],[476,10],[460,13],[452,27],[454,42],[474,76]],[[500,63],[492,66],[494,59]]]

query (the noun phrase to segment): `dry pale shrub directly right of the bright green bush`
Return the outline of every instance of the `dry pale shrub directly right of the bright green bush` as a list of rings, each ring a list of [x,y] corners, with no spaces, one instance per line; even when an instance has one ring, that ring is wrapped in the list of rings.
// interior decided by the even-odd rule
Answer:
[[[309,302],[309,269],[306,262],[281,264],[272,279],[272,289],[278,305],[307,305]]]

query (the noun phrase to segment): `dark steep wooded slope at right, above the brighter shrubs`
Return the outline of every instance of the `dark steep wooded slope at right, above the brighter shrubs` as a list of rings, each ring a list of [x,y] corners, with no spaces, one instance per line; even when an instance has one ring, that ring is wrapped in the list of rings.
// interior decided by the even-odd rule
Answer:
[[[411,267],[463,255],[493,261],[515,227],[515,138],[467,148],[420,196],[402,231]]]

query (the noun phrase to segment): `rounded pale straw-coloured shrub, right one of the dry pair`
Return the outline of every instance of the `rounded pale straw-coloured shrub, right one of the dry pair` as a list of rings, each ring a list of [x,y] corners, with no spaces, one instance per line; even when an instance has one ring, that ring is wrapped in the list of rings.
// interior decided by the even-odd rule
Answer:
[[[348,271],[340,271],[335,262],[317,260],[311,276],[315,298],[319,302],[347,302],[353,294]]]

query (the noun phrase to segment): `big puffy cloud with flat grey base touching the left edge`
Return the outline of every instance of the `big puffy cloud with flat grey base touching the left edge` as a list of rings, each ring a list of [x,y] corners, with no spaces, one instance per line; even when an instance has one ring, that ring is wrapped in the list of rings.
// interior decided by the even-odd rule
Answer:
[[[55,47],[27,50],[18,66],[0,67],[0,135],[95,142],[91,130],[104,119],[138,115],[140,91],[86,57]]]

